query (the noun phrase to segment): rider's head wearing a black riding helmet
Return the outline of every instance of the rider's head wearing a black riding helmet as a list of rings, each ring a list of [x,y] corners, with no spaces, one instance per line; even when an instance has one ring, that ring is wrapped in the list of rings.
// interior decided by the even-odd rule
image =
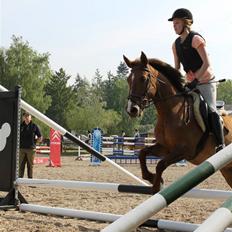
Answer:
[[[174,11],[172,17],[168,21],[173,21],[173,26],[176,34],[181,35],[185,29],[191,30],[191,25],[193,24],[192,13],[185,9],[180,8]]]

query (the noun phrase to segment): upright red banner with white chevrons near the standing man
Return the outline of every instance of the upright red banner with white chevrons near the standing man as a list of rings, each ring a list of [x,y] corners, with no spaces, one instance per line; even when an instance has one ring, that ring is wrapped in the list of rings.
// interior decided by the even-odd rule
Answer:
[[[50,129],[50,166],[60,167],[61,134],[59,131]]]

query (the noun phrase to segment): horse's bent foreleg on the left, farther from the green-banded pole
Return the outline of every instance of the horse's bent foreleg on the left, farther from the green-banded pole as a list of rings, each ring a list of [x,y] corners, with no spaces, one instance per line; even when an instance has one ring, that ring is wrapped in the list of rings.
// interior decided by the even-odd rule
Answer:
[[[160,157],[162,154],[165,154],[165,153],[166,153],[166,150],[158,143],[150,147],[145,147],[144,149],[140,151],[139,161],[140,161],[140,167],[141,167],[143,179],[148,180],[150,183],[153,184],[154,174],[149,172],[147,168],[146,157],[148,155],[155,155],[157,157]]]

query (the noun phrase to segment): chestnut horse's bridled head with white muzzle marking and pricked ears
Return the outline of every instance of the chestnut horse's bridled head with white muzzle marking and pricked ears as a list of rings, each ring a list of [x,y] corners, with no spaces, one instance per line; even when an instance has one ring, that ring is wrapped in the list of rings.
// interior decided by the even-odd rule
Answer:
[[[158,71],[149,65],[143,52],[140,60],[130,61],[125,56],[123,58],[127,66],[131,68],[127,78],[129,96],[126,110],[131,117],[138,117],[156,94]]]

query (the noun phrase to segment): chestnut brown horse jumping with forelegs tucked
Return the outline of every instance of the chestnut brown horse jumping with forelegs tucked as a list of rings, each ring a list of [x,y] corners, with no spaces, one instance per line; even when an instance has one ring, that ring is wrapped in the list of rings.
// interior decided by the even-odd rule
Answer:
[[[184,78],[178,70],[161,60],[148,59],[143,52],[140,59],[134,61],[126,56],[123,58],[131,69],[127,78],[127,113],[132,118],[139,117],[150,103],[157,111],[156,142],[139,153],[142,178],[153,185],[152,191],[156,193],[164,182],[162,173],[169,165],[183,159],[199,165],[215,154],[216,139],[212,133],[204,133],[200,128],[193,113],[194,101],[186,94]],[[225,144],[228,145],[232,142],[232,117],[222,117],[224,128],[227,128]],[[160,158],[156,173],[148,170],[147,155]],[[232,188],[232,162],[220,172]]]

